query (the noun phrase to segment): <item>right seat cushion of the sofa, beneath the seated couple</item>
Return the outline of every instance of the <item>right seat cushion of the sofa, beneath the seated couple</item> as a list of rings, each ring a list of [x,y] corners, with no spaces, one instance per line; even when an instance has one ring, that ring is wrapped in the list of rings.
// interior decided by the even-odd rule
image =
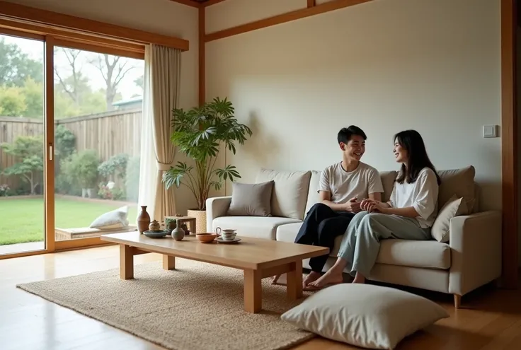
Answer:
[[[277,240],[294,242],[302,223],[288,223],[277,228]],[[329,256],[336,257],[343,235],[335,240]],[[435,240],[382,240],[377,262],[426,269],[450,269],[450,246]]]

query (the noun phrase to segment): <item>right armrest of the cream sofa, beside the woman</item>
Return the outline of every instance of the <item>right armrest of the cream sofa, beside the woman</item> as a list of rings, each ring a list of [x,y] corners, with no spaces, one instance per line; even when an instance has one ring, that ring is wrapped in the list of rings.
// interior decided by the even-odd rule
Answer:
[[[463,296],[501,276],[501,235],[500,211],[452,218],[449,293]]]

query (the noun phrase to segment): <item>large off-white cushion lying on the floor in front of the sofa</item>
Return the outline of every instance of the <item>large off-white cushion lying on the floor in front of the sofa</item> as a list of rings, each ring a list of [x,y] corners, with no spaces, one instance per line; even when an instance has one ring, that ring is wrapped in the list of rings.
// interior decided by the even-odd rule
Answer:
[[[368,349],[394,349],[404,337],[446,317],[433,301],[370,284],[324,288],[281,316],[324,338]]]

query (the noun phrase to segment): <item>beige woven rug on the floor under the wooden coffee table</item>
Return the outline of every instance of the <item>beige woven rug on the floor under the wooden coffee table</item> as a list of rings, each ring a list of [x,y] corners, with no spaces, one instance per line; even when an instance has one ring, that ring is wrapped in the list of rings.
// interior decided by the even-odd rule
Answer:
[[[243,273],[176,259],[137,264],[134,279],[119,269],[17,286],[167,349],[287,349],[314,337],[280,320],[302,301],[287,301],[284,286],[263,279],[263,311],[244,311]]]

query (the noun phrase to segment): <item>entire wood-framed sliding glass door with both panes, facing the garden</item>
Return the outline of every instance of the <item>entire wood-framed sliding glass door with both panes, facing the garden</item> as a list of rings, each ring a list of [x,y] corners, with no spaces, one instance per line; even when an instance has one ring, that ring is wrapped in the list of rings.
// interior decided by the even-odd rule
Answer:
[[[132,226],[143,75],[142,53],[0,28],[0,259]]]

